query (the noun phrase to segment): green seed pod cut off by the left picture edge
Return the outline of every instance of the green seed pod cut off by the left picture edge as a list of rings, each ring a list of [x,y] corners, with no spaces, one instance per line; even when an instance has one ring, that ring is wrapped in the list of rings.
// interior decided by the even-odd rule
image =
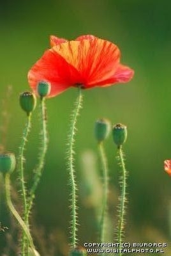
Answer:
[[[15,169],[15,155],[13,153],[0,154],[0,172],[11,173]]]

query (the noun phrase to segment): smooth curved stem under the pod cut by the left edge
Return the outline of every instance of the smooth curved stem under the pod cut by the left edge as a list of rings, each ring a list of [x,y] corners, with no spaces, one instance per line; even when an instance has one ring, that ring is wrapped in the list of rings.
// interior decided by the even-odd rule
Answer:
[[[33,255],[35,255],[33,239],[32,239],[31,234],[29,232],[29,228],[24,223],[24,221],[22,220],[22,218],[20,217],[19,213],[16,211],[15,207],[13,206],[13,204],[11,202],[11,196],[10,196],[10,173],[6,173],[6,175],[5,175],[5,192],[6,192],[6,202],[7,202],[7,205],[9,207],[11,213],[13,214],[13,216],[15,216],[15,218],[19,222],[19,225],[22,228],[22,230],[24,230],[24,232],[25,232],[25,234],[27,236],[27,239],[29,241],[29,246],[31,247],[31,250],[33,251]]]

